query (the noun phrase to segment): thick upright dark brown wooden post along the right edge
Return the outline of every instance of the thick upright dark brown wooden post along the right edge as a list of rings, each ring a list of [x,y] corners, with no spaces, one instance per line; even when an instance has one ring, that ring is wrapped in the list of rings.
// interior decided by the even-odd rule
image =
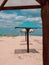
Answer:
[[[49,4],[41,8],[43,24],[43,65],[49,65]]]

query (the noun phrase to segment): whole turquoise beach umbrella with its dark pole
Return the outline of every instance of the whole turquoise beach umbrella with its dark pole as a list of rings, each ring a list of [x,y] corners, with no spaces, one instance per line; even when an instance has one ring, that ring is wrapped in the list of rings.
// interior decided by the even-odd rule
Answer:
[[[34,22],[30,22],[30,21],[25,21],[22,24],[20,24],[18,27],[16,28],[22,28],[22,29],[26,29],[26,34],[27,34],[27,52],[29,53],[29,31],[30,29],[41,29],[41,26],[34,23]]]

